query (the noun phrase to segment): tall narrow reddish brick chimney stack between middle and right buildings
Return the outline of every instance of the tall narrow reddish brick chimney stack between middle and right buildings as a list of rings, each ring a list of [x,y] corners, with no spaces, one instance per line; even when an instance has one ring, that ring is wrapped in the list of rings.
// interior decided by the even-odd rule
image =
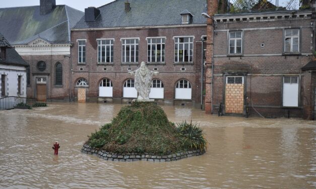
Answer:
[[[212,63],[213,63],[213,16],[218,11],[218,0],[207,0],[207,12],[211,18],[207,19],[207,40],[206,40],[206,75],[205,75],[205,113],[211,114],[213,110],[212,102]]]

